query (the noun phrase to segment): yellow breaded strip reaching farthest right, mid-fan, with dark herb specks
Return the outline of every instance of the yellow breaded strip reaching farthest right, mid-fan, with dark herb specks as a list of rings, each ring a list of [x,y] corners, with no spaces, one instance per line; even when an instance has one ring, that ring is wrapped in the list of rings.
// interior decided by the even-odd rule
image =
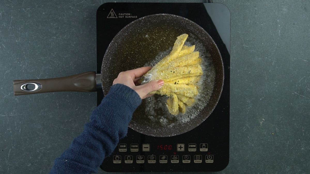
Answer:
[[[172,81],[175,79],[180,79],[183,77],[190,77],[190,76],[200,76],[202,75],[202,69],[201,66],[198,64],[195,65],[189,65],[186,67],[174,67],[164,70],[158,70],[158,75],[161,75],[160,78],[156,79],[162,79],[164,81]]]

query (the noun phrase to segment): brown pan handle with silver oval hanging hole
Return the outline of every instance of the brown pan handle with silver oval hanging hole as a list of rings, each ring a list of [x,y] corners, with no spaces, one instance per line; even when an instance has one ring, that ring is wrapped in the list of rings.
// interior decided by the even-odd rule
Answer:
[[[100,83],[97,84],[97,83]],[[38,94],[58,91],[95,92],[101,86],[100,74],[84,72],[81,74],[37,80],[14,80],[14,95]],[[32,86],[32,88],[30,88]]]

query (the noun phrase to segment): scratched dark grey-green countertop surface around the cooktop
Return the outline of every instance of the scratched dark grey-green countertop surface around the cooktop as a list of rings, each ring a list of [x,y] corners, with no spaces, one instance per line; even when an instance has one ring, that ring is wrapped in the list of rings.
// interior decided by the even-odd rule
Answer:
[[[16,97],[12,80],[95,71],[104,2],[0,1],[0,173],[48,173],[83,131],[95,93]],[[218,173],[309,173],[310,2],[216,2],[231,11],[230,162]]]

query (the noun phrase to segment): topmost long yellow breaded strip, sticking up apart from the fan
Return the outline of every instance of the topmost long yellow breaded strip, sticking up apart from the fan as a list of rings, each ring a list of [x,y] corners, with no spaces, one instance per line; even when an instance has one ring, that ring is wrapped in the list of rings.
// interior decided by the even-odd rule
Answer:
[[[170,54],[168,54],[161,61],[159,61],[153,68],[161,67],[177,58],[187,37],[188,34],[181,34],[180,36],[178,36],[174,43],[174,46],[172,47]]]

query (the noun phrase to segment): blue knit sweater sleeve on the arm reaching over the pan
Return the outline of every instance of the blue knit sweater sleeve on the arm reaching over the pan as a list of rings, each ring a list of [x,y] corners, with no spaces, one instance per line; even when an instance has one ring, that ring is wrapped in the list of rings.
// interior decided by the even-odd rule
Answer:
[[[83,133],[55,159],[50,173],[96,173],[104,157],[126,136],[132,114],[140,103],[141,98],[133,89],[122,84],[113,85],[92,112]]]

